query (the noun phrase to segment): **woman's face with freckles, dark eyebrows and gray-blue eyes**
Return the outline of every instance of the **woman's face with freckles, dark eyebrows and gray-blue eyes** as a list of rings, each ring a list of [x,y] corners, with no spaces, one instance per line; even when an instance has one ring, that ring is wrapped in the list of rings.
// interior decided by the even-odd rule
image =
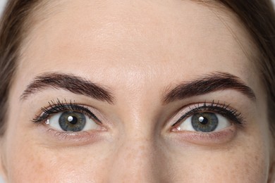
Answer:
[[[233,14],[195,1],[45,7],[10,91],[8,181],[267,182],[266,96]]]

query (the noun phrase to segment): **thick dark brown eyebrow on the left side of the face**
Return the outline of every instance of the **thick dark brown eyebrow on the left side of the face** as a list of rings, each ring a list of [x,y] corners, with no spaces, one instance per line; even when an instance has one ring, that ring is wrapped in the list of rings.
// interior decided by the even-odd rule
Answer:
[[[114,103],[113,95],[104,87],[85,80],[85,78],[82,77],[58,72],[44,73],[43,75],[35,77],[35,79],[27,85],[20,99],[27,99],[27,96],[30,96],[30,94],[35,94],[35,92],[47,88],[65,89],[73,94],[81,94],[99,101]]]

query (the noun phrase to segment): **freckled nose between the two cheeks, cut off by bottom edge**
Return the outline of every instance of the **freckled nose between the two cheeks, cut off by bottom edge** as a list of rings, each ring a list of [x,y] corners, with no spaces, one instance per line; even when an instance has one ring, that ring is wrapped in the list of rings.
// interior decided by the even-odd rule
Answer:
[[[152,135],[128,132],[113,156],[111,182],[155,182],[154,155],[156,149]]]

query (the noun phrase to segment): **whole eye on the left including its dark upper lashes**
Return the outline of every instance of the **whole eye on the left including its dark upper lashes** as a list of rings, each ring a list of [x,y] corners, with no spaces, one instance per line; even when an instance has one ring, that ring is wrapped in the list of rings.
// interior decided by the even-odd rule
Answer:
[[[101,120],[92,111],[94,108],[82,106],[66,100],[50,101],[49,106],[41,108],[42,113],[36,115],[32,122],[46,124],[61,132],[81,132],[88,130],[106,130]]]

